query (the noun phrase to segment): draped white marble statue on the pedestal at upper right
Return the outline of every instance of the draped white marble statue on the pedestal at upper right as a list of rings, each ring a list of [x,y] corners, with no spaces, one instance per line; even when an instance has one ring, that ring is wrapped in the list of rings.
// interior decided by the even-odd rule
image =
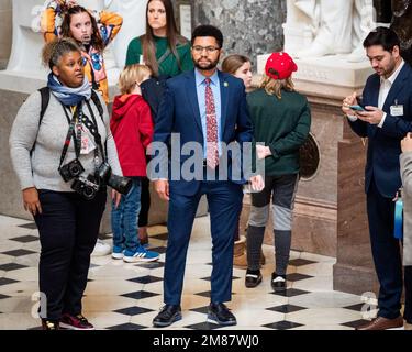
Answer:
[[[372,0],[287,0],[285,51],[300,58],[350,54],[348,61],[361,61],[361,42],[374,28]]]

